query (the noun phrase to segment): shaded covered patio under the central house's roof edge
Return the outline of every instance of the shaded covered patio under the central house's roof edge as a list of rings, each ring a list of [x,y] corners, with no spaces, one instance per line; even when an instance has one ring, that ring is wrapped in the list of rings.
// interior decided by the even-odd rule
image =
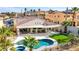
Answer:
[[[43,26],[43,27],[25,27],[17,28],[17,35],[21,34],[39,34],[39,33],[49,33],[49,32],[60,32],[60,25],[54,26]]]

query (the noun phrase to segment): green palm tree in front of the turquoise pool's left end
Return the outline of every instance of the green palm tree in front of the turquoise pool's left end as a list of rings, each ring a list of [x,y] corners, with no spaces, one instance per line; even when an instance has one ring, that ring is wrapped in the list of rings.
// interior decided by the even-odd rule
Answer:
[[[38,41],[35,40],[35,38],[32,36],[25,36],[24,39],[17,42],[17,44],[23,44],[24,46],[29,48],[29,51],[32,51],[34,46],[38,44]]]

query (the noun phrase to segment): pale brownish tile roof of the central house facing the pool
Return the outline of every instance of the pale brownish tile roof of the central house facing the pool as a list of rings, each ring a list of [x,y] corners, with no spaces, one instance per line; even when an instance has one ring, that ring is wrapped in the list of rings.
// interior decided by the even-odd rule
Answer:
[[[28,26],[36,26],[36,27],[40,27],[40,26],[52,26],[52,25],[56,25],[53,22],[48,22],[45,19],[41,19],[38,17],[20,17],[16,19],[16,27],[20,28],[20,27],[28,27]]]

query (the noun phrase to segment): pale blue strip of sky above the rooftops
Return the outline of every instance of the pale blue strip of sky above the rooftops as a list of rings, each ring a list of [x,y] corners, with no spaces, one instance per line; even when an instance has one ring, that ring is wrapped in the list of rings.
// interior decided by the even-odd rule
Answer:
[[[35,9],[38,10],[39,8],[41,10],[59,10],[59,11],[64,11],[66,10],[67,7],[0,7],[0,12],[22,12],[24,11],[24,8],[27,8],[27,10],[29,11],[30,9]],[[69,7],[69,9],[71,9]]]

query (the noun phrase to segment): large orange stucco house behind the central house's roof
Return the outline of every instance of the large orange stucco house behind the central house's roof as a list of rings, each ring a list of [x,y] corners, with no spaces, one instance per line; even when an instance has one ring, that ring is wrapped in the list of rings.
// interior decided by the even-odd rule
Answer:
[[[66,17],[66,13],[64,12],[52,12],[45,16],[45,19],[54,23],[63,23],[65,20],[72,20],[72,13],[69,13]],[[66,19],[67,18],[67,19]]]

